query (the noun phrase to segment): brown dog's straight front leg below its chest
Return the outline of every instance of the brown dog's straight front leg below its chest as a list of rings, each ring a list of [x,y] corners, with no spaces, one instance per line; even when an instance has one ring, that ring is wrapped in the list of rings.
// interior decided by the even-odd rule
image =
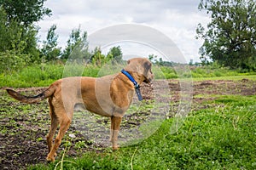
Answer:
[[[113,150],[119,149],[118,136],[119,136],[121,121],[122,121],[122,117],[119,117],[119,116],[111,117],[110,141],[112,142]]]

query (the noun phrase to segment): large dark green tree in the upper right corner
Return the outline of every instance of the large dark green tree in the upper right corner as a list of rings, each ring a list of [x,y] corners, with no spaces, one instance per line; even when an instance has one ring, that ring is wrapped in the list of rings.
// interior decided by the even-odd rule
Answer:
[[[256,3],[253,0],[201,0],[200,10],[211,14],[207,30],[199,24],[197,38],[204,39],[201,59],[207,56],[230,68],[256,70]]]

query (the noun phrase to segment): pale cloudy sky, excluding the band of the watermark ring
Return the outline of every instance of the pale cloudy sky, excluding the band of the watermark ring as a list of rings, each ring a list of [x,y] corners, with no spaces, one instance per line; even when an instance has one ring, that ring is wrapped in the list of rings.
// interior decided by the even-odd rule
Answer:
[[[198,54],[202,40],[196,40],[195,29],[201,23],[206,26],[210,21],[209,16],[198,10],[201,0],[48,0],[44,6],[52,10],[50,17],[38,22],[39,38],[45,40],[49,27],[57,26],[56,34],[61,48],[67,45],[68,37],[74,28],[87,31],[90,36],[97,31],[111,26],[123,24],[136,24],[147,26],[160,31],[183,54],[189,63],[200,61]],[[108,30],[109,31],[109,30]],[[113,34],[114,32],[112,32]],[[148,35],[149,37],[151,35]],[[155,37],[157,38],[157,37]],[[114,43],[113,46],[119,45]],[[89,42],[90,46],[90,42]],[[120,43],[123,54],[148,55],[156,54],[161,57],[159,51],[152,47],[138,43]],[[103,49],[107,53],[111,46]],[[141,51],[147,51],[141,53]],[[148,57],[148,56],[144,56]]]

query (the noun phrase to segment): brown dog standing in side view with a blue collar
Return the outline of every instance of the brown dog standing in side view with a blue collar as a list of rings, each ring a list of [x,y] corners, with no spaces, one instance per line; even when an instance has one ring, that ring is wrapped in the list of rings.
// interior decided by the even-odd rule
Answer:
[[[134,80],[141,84],[153,79],[151,63],[148,59],[135,58],[128,60],[125,66]],[[131,105],[135,94],[135,84],[124,73],[117,73],[106,77],[67,77],[52,83],[47,90],[37,96],[27,97],[18,94],[14,90],[7,89],[10,96],[23,103],[37,103],[43,99],[49,99],[49,115],[51,125],[47,135],[49,154],[48,161],[55,161],[56,150],[61,144],[61,139],[69,127],[73,109],[76,104],[84,104],[86,110],[101,116],[111,118],[110,141],[113,150],[118,149],[117,139],[119,126],[125,111]],[[56,128],[60,124],[60,130],[53,143]]]

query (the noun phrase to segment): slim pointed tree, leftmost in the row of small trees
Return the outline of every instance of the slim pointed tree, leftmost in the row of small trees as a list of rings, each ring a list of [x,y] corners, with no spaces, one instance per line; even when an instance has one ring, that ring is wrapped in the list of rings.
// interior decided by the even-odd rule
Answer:
[[[56,29],[56,25],[51,26],[48,30],[46,41],[43,42],[44,44],[41,52],[48,61],[58,59],[61,55],[61,48],[57,48],[58,35],[55,33]]]

